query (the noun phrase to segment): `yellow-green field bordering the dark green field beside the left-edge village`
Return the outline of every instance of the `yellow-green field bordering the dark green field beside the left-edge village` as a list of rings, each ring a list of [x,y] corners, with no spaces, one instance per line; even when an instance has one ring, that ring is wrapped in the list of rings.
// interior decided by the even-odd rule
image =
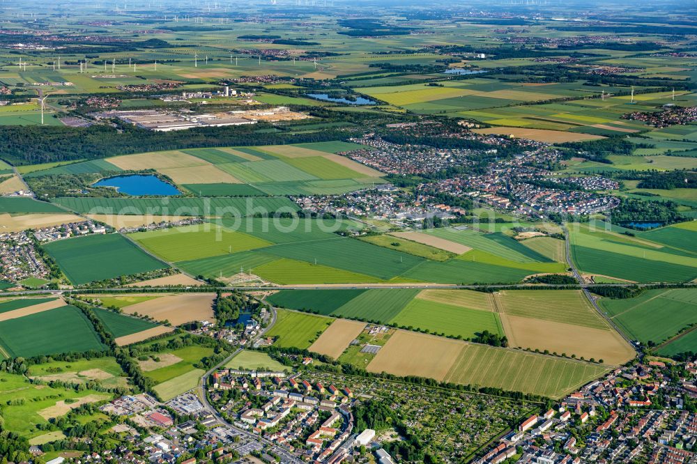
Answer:
[[[210,223],[137,232],[129,235],[129,238],[169,262],[192,261],[271,245],[261,238]]]

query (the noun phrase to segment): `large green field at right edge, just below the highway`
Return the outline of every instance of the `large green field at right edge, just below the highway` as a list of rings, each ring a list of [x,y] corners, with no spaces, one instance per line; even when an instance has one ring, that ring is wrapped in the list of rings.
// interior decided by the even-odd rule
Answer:
[[[655,289],[625,300],[601,298],[600,306],[633,340],[661,343],[697,323],[697,290]]]

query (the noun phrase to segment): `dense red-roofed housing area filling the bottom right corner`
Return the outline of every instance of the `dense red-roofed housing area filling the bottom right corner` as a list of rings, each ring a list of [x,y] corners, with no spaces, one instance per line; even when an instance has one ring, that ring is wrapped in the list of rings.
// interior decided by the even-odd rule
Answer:
[[[478,464],[585,462],[697,462],[697,415],[684,410],[694,391],[690,379],[669,385],[659,360],[615,369],[569,394],[556,408],[532,415],[481,456]],[[656,404],[657,396],[666,403]]]

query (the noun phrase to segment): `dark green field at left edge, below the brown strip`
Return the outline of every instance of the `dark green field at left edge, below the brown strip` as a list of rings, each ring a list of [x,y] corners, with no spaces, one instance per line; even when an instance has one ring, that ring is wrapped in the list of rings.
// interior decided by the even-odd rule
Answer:
[[[74,306],[0,322],[0,347],[10,357],[105,350],[90,321]]]

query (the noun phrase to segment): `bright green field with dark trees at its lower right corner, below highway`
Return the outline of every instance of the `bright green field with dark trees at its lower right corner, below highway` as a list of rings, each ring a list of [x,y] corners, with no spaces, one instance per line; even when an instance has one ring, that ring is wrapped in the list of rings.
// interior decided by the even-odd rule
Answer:
[[[401,327],[415,327],[447,337],[474,337],[483,330],[504,335],[498,315],[415,298],[390,320]]]

